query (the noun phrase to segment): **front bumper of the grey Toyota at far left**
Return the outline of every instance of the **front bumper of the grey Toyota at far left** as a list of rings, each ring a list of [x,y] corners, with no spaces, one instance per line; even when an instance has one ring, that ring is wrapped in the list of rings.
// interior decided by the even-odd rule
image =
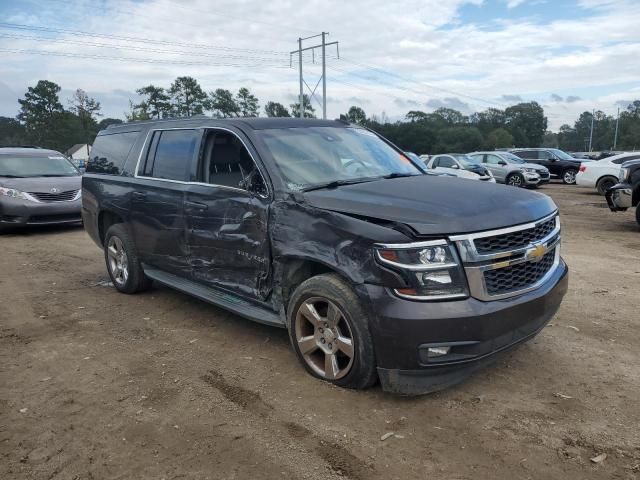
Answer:
[[[82,200],[68,202],[31,202],[15,198],[0,200],[0,228],[24,225],[78,223],[82,220]]]

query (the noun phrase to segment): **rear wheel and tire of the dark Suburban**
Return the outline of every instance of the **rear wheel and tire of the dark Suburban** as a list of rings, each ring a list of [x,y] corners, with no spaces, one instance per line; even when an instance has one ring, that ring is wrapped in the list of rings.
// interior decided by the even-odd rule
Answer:
[[[104,237],[104,260],[113,286],[122,293],[136,293],[151,287],[142,270],[129,231],[122,223],[112,225]]]

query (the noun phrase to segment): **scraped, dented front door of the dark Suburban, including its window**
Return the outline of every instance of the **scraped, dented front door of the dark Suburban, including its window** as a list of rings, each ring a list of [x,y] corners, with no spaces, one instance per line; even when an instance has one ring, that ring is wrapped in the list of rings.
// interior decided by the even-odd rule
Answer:
[[[255,161],[234,132],[208,129],[198,176],[184,202],[194,280],[264,300],[271,263],[269,203]]]

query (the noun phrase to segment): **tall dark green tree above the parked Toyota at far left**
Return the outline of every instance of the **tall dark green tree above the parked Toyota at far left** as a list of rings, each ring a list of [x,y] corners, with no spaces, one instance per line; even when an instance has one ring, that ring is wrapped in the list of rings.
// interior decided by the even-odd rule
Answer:
[[[60,86],[48,80],[40,80],[29,87],[24,98],[18,100],[18,120],[25,126],[27,141],[47,146],[51,141],[57,115],[64,112],[58,94]]]

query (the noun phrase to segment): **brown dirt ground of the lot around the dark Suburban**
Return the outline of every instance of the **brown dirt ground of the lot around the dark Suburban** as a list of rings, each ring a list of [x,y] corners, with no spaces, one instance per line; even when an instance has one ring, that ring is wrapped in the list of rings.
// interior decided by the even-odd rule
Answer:
[[[117,293],[82,229],[0,236],[0,478],[640,478],[639,228],[542,191],[571,268],[559,314],[418,398],[314,380],[283,330],[172,290]]]

